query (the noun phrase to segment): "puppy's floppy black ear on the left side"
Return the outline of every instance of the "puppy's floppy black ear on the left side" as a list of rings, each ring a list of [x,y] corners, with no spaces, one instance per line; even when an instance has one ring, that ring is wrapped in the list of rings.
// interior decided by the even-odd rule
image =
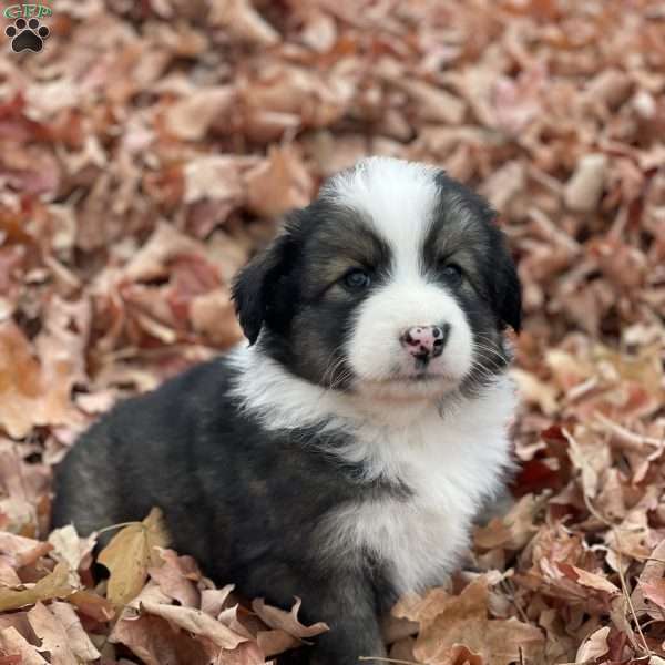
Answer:
[[[232,295],[245,337],[253,345],[266,319],[274,315],[277,299],[286,295],[285,278],[295,259],[295,238],[285,229],[235,277]],[[287,303],[282,304],[283,307]]]

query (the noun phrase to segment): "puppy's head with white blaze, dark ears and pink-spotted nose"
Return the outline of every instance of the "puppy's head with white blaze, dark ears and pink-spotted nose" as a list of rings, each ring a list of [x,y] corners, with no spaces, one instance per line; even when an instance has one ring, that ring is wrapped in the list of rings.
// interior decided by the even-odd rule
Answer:
[[[328,181],[238,275],[241,325],[309,381],[386,399],[472,390],[508,364],[521,291],[488,204],[371,157]]]

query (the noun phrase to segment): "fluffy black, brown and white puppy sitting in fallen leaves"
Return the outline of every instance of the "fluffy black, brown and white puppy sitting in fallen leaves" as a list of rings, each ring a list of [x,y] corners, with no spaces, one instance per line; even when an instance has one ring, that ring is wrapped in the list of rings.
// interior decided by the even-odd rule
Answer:
[[[158,505],[215,580],[328,623],[310,663],[385,656],[378,617],[444,581],[510,468],[503,234],[439,168],[371,157],[289,214],[233,295],[249,345],[84,433],[54,525]]]

